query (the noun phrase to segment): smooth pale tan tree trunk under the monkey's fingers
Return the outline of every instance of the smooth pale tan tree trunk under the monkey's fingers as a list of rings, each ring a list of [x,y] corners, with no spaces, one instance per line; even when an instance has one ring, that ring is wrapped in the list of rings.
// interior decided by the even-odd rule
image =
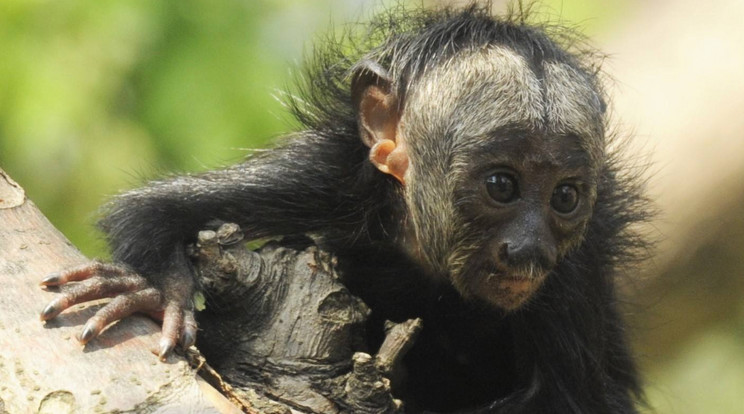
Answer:
[[[0,169],[0,413],[240,412],[183,357],[158,362],[160,327],[145,317],[84,347],[75,337],[99,305],[40,322],[54,297],[42,277],[86,261]]]

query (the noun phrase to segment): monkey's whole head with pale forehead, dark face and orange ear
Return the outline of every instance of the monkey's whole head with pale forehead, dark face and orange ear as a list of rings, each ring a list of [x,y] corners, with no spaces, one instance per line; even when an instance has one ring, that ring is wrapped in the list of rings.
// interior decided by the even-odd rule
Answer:
[[[503,45],[465,48],[404,88],[365,62],[360,135],[403,186],[410,256],[466,298],[508,311],[532,297],[592,215],[604,154],[592,76]]]

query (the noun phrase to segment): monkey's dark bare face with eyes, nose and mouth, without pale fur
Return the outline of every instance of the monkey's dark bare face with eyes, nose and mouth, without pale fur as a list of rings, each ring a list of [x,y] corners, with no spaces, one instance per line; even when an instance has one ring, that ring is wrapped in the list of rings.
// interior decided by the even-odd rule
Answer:
[[[501,131],[463,155],[454,199],[467,231],[450,277],[467,297],[524,304],[581,243],[596,171],[577,136]]]

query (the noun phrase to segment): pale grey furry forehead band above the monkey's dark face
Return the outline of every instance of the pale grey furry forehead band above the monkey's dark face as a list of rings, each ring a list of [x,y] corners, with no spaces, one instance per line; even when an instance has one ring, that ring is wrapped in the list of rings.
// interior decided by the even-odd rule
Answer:
[[[507,125],[601,136],[601,103],[589,79],[565,63],[545,61],[541,70],[538,77],[523,56],[503,46],[459,53],[412,85],[406,108],[413,110],[404,111],[401,132],[409,142],[458,141]]]

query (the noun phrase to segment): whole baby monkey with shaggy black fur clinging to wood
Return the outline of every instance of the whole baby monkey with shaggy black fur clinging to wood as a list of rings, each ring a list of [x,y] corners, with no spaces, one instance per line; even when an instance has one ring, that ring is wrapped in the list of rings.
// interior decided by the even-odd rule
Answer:
[[[398,391],[412,412],[635,413],[641,390],[614,277],[643,241],[636,176],[610,148],[599,58],[565,31],[488,6],[403,10],[321,45],[304,125],[230,168],[116,197],[114,262],[42,312],[113,297],[85,343],[133,312],[163,321],[160,356],[196,341],[186,253],[210,223],[249,238],[309,235],[385,320],[424,320]]]

